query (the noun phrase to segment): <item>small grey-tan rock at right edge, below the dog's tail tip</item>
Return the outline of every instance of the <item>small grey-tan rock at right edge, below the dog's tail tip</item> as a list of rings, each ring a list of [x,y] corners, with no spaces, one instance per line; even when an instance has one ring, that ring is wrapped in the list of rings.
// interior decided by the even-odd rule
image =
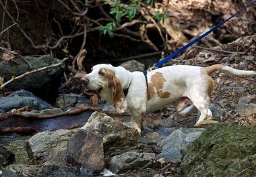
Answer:
[[[256,97],[243,97],[239,99],[236,109],[239,114],[247,117],[256,113]]]

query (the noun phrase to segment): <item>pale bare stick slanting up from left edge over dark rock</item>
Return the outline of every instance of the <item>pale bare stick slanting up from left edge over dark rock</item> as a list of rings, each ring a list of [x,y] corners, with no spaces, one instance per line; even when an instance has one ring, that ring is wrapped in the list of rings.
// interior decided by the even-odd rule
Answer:
[[[3,90],[3,87],[5,87],[7,84],[13,82],[14,80],[18,80],[20,78],[24,78],[25,76],[28,76],[30,74],[34,74],[36,72],[40,72],[42,70],[47,70],[49,68],[55,68],[57,66],[61,66],[62,64],[65,64],[65,62],[69,59],[69,57],[66,57],[64,58],[61,62],[57,63],[57,64],[52,64],[50,66],[45,66],[45,67],[42,67],[42,68],[38,68],[38,69],[35,69],[35,70],[31,70],[31,71],[28,71],[28,72],[25,72],[24,74],[20,75],[20,76],[17,76],[15,78],[11,78],[10,80],[8,80],[7,82],[5,82],[4,84],[2,84],[0,86],[0,91]]]

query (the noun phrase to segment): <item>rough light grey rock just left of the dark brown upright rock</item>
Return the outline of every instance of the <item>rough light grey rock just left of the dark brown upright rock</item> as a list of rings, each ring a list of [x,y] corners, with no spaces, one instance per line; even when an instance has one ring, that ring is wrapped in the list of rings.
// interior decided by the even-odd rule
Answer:
[[[48,161],[67,160],[67,141],[72,136],[70,130],[43,131],[28,139],[28,156],[36,164]]]

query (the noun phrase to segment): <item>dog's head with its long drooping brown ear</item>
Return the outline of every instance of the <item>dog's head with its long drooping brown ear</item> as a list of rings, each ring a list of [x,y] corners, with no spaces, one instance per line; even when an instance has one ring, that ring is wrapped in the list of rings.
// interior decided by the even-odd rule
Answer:
[[[81,78],[86,87],[86,93],[97,94],[110,104],[113,103],[118,113],[125,112],[127,101],[115,67],[110,64],[98,64],[92,67],[92,72]]]

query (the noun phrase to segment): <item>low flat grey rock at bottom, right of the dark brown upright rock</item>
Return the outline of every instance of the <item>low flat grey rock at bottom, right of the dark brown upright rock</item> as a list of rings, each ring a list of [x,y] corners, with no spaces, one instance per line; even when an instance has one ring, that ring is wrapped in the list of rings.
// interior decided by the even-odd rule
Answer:
[[[110,160],[109,169],[117,174],[123,174],[134,168],[150,168],[153,160],[153,153],[127,152],[114,156]]]

